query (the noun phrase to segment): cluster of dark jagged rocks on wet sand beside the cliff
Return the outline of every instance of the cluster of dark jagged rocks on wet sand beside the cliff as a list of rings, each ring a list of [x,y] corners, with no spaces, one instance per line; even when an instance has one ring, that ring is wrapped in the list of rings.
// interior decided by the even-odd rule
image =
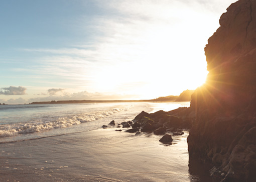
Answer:
[[[188,107],[180,107],[171,111],[159,110],[155,113],[147,113],[142,111],[137,115],[133,121],[121,122],[123,128],[130,128],[125,130],[126,132],[136,133],[136,135],[141,132],[154,132],[157,135],[164,135],[160,139],[163,143],[171,143],[173,135],[184,134],[183,129],[190,129],[192,126],[192,121],[195,119],[195,112]],[[112,120],[110,125],[115,126],[115,122]],[[102,126],[107,127],[106,125]],[[117,126],[120,127],[120,126]],[[116,131],[121,131],[121,129],[116,129]],[[168,134],[169,133],[169,134]]]

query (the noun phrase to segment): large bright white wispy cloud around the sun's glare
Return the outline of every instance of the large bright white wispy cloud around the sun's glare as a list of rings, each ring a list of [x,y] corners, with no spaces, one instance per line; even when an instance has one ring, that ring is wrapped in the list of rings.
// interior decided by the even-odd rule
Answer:
[[[218,16],[234,1],[96,0],[104,13],[89,21],[74,19],[79,31],[94,32],[89,40],[81,37],[69,47],[24,48],[39,56],[17,71],[26,72],[33,83],[93,93],[65,93],[62,98],[55,94],[63,90],[52,90],[49,99],[96,98],[95,91],[102,93],[97,99],[111,91],[179,94],[206,76],[204,46],[219,26]]]

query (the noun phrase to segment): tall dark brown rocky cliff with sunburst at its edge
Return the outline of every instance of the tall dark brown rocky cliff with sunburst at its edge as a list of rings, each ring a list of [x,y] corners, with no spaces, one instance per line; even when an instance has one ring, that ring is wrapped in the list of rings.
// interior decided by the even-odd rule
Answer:
[[[231,4],[219,22],[206,83],[192,95],[189,156],[212,162],[219,180],[256,181],[256,0]]]

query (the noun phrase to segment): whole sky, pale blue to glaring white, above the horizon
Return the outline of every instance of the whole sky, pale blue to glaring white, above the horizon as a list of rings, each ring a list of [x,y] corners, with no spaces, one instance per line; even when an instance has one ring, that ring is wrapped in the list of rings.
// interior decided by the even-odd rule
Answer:
[[[3,0],[0,103],[152,99],[204,83],[236,0]]]

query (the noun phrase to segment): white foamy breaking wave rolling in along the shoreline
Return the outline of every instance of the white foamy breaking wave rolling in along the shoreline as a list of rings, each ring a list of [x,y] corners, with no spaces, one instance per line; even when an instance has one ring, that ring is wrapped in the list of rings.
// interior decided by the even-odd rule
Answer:
[[[95,121],[114,113],[127,110],[127,108],[114,108],[105,111],[94,111],[91,113],[79,113],[65,117],[48,116],[42,120],[32,120],[29,122],[2,124],[0,125],[0,137],[15,136],[18,134],[41,132],[54,128],[63,128],[82,122]]]

